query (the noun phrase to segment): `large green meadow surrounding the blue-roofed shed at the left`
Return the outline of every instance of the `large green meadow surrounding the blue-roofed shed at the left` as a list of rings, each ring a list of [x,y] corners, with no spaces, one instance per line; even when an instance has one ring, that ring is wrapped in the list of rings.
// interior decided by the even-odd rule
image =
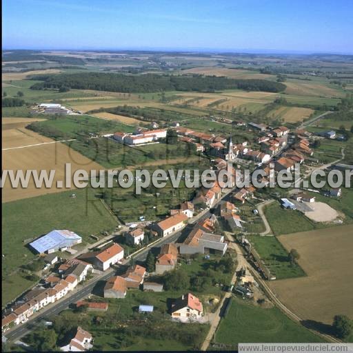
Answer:
[[[37,256],[26,243],[54,229],[72,230],[83,241],[93,242],[90,234],[99,234],[117,225],[103,203],[94,198],[93,190],[74,193],[75,199],[70,198],[72,191],[69,191],[3,203],[3,301],[21,293],[21,288],[10,283],[14,279],[10,273]]]

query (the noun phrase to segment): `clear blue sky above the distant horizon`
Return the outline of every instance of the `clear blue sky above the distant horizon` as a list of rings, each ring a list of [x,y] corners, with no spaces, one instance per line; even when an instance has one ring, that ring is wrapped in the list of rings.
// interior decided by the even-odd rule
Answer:
[[[353,53],[352,0],[3,0],[3,48]]]

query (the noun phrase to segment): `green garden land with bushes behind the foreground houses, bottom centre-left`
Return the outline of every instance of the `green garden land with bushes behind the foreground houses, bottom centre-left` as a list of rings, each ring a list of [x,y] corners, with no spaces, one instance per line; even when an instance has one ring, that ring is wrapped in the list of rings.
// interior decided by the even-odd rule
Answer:
[[[170,321],[168,305],[181,294],[128,290],[125,299],[92,298],[93,301],[108,302],[107,312],[73,313],[65,310],[59,316],[88,330],[94,338],[94,350],[192,350],[199,347],[209,325]],[[139,305],[153,305],[154,312],[147,317],[139,314]],[[101,323],[96,323],[97,316]],[[187,339],[188,335],[192,337]]]

